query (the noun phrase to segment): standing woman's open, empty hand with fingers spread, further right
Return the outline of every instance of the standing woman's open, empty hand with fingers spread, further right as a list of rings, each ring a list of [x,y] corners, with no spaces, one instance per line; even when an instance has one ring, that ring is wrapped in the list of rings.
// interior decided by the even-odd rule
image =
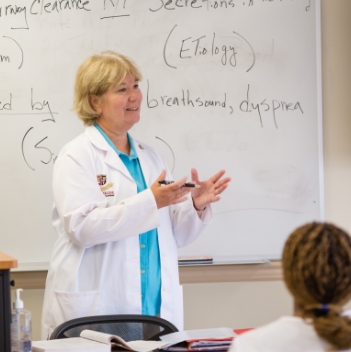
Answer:
[[[228,187],[228,183],[230,182],[230,177],[222,179],[224,174],[225,171],[221,170],[210,177],[207,181],[201,182],[199,181],[197,170],[191,169],[192,181],[200,186],[200,188],[195,188],[191,191],[196,210],[204,210],[208,204],[218,202],[221,199],[219,194]]]

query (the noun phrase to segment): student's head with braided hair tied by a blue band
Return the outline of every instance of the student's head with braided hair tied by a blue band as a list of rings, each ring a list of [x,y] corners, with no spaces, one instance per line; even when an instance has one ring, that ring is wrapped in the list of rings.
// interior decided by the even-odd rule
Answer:
[[[336,349],[351,348],[351,238],[340,228],[310,223],[296,229],[283,251],[284,280],[304,318]]]

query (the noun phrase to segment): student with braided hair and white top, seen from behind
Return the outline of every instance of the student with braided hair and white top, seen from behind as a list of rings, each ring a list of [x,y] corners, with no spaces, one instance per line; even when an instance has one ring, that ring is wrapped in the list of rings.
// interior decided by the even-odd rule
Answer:
[[[295,230],[283,251],[284,281],[294,316],[236,338],[230,352],[351,350],[351,238],[340,228],[310,223]]]

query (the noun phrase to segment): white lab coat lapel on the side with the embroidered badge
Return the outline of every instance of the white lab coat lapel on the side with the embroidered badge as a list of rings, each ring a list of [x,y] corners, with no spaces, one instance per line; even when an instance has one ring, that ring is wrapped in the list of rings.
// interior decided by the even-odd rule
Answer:
[[[134,182],[132,176],[129,171],[123,164],[121,158],[117,155],[117,153],[108,145],[105,138],[101,135],[101,133],[94,126],[89,126],[86,128],[86,135],[90,142],[94,144],[97,148],[106,151],[106,156],[104,162],[110,167],[118,170],[125,177],[129,178]]]

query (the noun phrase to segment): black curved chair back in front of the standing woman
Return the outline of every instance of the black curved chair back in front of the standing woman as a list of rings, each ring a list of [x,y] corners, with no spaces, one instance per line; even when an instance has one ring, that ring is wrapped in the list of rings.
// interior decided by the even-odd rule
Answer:
[[[118,335],[125,341],[159,341],[160,336],[178,331],[169,321],[140,314],[96,315],[66,321],[51,334],[50,340],[79,337],[85,330]]]

